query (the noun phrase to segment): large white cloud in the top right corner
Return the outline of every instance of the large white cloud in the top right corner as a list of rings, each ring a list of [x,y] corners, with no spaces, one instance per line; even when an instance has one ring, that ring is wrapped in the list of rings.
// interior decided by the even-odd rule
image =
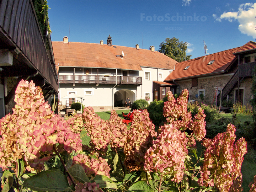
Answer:
[[[256,26],[256,3],[245,3],[239,5],[237,12],[224,12],[220,17],[213,14],[213,18],[216,21],[223,19],[233,22],[237,20],[239,22],[238,29],[243,34],[256,38],[255,26]]]

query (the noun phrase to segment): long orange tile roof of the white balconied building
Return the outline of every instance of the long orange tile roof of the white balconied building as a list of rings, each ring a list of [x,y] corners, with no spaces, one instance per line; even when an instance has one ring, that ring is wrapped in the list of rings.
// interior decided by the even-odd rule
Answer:
[[[142,70],[141,66],[174,69],[177,63],[162,53],[147,49],[79,42],[52,42],[52,45],[55,63],[59,66]],[[122,51],[125,56],[116,57]]]

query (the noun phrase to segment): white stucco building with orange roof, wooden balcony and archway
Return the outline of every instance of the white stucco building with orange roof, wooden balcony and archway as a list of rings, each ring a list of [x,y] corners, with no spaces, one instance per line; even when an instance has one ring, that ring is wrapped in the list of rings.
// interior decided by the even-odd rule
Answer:
[[[164,81],[177,63],[154,46],[149,50],[139,49],[138,44],[134,48],[114,46],[110,36],[107,44],[102,40],[98,44],[68,42],[64,37],[63,42],[53,42],[53,51],[60,101],[69,105],[75,99],[62,97],[75,93],[95,111],[112,110],[127,97],[132,103],[145,96],[153,101],[153,81]]]

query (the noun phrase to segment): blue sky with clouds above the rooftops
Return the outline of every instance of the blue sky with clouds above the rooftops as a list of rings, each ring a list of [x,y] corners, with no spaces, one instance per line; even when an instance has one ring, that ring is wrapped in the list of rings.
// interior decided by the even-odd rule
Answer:
[[[159,49],[165,38],[188,42],[191,58],[256,39],[256,2],[249,0],[48,0],[52,41]],[[142,45],[143,34],[143,45]]]

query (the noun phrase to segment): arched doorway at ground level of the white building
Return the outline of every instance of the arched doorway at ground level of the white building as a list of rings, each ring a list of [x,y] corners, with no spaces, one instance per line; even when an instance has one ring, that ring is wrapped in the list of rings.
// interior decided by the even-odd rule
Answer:
[[[123,107],[125,100],[129,97],[131,103],[133,103],[136,99],[135,93],[128,89],[118,90],[114,94],[114,106],[115,107]]]

